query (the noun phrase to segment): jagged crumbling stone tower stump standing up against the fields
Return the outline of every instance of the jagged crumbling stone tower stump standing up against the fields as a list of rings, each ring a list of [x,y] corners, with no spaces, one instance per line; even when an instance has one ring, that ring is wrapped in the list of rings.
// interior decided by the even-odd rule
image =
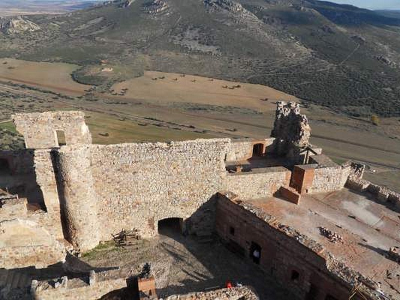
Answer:
[[[272,137],[303,147],[309,145],[310,135],[311,128],[307,117],[300,113],[300,104],[283,101],[276,103]]]

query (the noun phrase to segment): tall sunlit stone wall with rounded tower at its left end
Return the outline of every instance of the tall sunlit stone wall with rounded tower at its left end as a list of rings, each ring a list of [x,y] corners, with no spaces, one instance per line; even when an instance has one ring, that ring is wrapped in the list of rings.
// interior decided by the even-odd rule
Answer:
[[[229,139],[198,139],[61,147],[57,181],[68,240],[83,250],[123,228],[150,237],[158,220],[200,211],[223,185],[228,146]]]

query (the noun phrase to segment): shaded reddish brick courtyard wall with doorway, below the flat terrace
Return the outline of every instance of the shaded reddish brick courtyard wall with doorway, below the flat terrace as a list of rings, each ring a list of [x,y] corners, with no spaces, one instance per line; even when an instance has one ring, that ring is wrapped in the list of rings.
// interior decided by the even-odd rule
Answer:
[[[348,288],[329,274],[321,256],[224,197],[217,200],[216,231],[226,242],[241,246],[249,263],[253,263],[249,253],[251,242],[259,244],[260,267],[299,298],[306,298],[312,283],[318,287],[315,300],[324,300],[328,294],[337,300],[348,299]],[[298,279],[291,279],[292,270],[299,273]]]

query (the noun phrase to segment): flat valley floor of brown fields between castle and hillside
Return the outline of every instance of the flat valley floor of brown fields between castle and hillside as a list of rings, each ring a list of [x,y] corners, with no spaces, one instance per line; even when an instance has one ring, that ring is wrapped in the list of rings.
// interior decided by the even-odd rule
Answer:
[[[96,143],[265,137],[273,125],[275,102],[299,101],[262,85],[156,71],[104,92],[72,81],[75,65],[3,61],[7,64],[0,60],[0,81],[7,77],[27,86],[0,82],[0,92],[5,93],[0,95],[0,109],[7,108],[2,119],[9,118],[14,108],[80,109]],[[326,154],[337,162],[364,162],[370,167],[368,179],[400,190],[400,119],[382,118],[376,126],[369,119],[317,105],[306,105],[303,112],[311,123],[311,141]]]

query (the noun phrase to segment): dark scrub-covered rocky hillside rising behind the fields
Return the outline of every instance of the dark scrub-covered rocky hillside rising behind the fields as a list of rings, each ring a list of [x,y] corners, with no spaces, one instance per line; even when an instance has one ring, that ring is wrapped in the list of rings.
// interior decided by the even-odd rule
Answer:
[[[25,18],[0,55],[77,62],[100,86],[143,69],[271,85],[351,115],[400,115],[400,18],[317,0],[115,0]],[[100,73],[101,61],[112,72]]]

